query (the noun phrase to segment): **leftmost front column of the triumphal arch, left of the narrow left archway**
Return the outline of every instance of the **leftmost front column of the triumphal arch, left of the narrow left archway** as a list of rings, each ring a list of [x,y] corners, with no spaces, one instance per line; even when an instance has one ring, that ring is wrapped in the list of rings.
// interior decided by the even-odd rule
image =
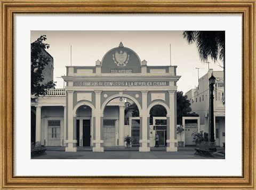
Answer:
[[[67,97],[68,97],[68,115],[67,115],[67,125],[68,125],[68,139],[66,140],[66,152],[77,152],[76,147],[76,126],[74,126],[74,116],[76,118],[76,115],[73,115],[73,95],[74,90],[67,90]]]

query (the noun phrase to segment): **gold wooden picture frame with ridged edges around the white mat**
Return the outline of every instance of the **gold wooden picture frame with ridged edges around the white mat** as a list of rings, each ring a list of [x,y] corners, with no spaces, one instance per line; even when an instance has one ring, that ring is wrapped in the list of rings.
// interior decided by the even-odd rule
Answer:
[[[256,0],[1,0],[1,188],[2,189],[255,189],[255,9]],[[14,176],[15,14],[181,13],[243,16],[243,176]]]

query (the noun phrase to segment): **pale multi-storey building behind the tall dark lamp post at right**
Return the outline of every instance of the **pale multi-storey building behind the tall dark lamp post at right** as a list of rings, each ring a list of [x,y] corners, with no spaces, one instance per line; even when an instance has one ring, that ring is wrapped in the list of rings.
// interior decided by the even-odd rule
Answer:
[[[199,78],[196,89],[189,90],[186,95],[191,103],[191,112],[195,112],[200,118],[200,130],[209,134],[210,138],[210,88],[209,78],[216,78],[213,90],[213,110],[214,110],[214,137],[217,146],[225,143],[225,101],[223,71],[213,71],[210,69],[203,77]]]

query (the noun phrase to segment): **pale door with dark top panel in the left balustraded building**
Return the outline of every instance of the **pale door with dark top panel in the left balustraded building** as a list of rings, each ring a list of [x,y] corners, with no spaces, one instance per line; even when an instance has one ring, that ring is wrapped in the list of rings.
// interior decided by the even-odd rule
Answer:
[[[48,120],[47,146],[60,146],[60,120]]]

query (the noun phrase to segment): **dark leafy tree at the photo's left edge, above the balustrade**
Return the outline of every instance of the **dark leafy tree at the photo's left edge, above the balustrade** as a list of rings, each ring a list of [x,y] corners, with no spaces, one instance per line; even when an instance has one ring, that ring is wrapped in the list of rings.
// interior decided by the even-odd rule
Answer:
[[[46,36],[43,35],[31,43],[31,95],[35,96],[46,95],[47,89],[55,86],[53,81],[42,84],[44,80],[43,70],[45,65],[50,63],[49,57],[43,54],[43,49],[50,47],[49,44],[43,42],[46,39]]]

